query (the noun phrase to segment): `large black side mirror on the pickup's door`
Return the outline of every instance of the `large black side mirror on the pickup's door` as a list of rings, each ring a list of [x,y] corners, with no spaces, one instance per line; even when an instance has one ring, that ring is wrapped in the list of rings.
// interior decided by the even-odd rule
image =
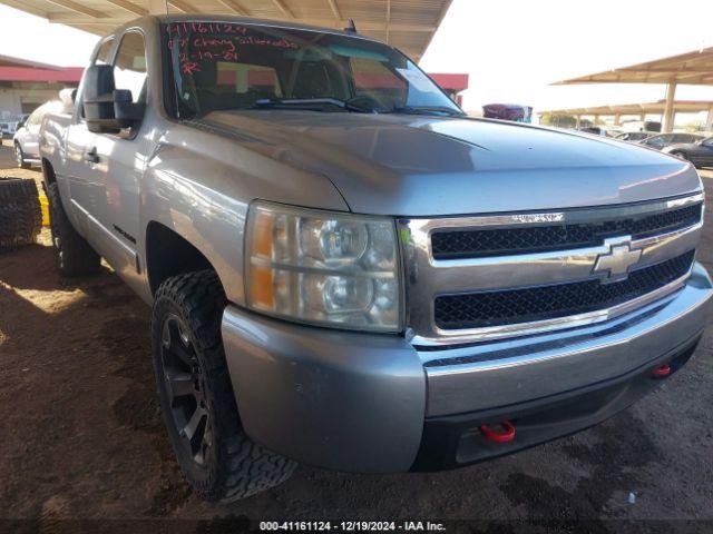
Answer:
[[[85,75],[84,110],[87,129],[96,134],[118,134],[144,118],[145,105],[134,102],[131,91],[116,89],[114,69],[94,65]]]

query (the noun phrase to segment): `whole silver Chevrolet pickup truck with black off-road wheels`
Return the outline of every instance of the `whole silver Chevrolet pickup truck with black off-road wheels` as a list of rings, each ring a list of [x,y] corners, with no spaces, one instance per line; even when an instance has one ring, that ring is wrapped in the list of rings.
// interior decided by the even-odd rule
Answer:
[[[60,273],[153,306],[163,417],[206,498],[296,463],[472,464],[595,425],[711,312],[685,161],[472,119],[353,31],[196,16],[97,46],[40,156]]]

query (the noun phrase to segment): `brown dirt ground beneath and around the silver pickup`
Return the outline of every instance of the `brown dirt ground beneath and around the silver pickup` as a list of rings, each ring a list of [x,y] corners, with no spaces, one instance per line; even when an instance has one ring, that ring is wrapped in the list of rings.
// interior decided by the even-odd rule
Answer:
[[[11,165],[7,152],[0,169]],[[713,180],[704,181],[711,197]],[[700,257],[713,271],[707,204]],[[49,245],[45,230],[37,245],[0,255],[0,518],[33,520],[46,532],[61,531],[64,518],[203,520],[169,524],[216,532],[211,525],[221,517],[476,518],[504,533],[520,532],[512,520],[563,532],[615,533],[626,524],[713,532],[713,328],[657,393],[573,437],[436,474],[299,467],[285,484],[221,507],[183,482],[164,433],[149,308],[108,267],[92,278],[59,278]],[[645,523],[623,523],[632,520]]]

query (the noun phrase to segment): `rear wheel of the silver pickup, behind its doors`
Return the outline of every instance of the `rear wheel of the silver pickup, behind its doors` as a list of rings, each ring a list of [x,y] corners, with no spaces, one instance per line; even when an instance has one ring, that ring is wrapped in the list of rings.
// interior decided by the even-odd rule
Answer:
[[[52,231],[52,245],[55,245],[55,260],[59,274],[74,277],[99,273],[101,257],[71,226],[59,197],[57,182],[47,186],[47,199],[49,201],[49,226]]]

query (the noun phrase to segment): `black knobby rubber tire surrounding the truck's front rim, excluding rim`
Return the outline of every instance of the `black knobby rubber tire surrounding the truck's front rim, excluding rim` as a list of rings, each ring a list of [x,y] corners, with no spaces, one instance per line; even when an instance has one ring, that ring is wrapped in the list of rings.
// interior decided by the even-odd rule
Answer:
[[[241,426],[221,336],[226,304],[217,275],[202,270],[164,281],[156,293],[152,315],[154,368],[169,439],[186,479],[202,497],[217,503],[237,501],[276,486],[296,466],[293,461],[253,443]],[[182,434],[174,418],[172,411],[176,404],[170,400],[170,386],[165,378],[168,376],[162,352],[168,345],[165,328],[167,320],[176,317],[182,328],[179,337],[189,343],[199,366],[201,398],[207,412],[204,428],[211,428],[209,448],[202,454],[203,465],[192,456],[185,433]],[[184,342],[184,346],[188,345]]]

